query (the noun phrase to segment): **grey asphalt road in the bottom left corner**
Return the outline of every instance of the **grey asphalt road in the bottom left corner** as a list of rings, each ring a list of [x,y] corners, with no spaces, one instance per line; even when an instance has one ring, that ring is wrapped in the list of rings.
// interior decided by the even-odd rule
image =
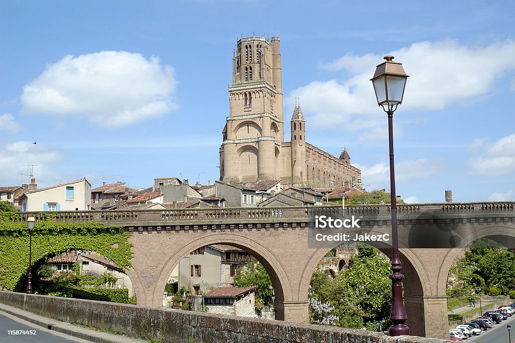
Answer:
[[[88,343],[0,312],[0,343]],[[91,343],[91,342],[89,342]]]

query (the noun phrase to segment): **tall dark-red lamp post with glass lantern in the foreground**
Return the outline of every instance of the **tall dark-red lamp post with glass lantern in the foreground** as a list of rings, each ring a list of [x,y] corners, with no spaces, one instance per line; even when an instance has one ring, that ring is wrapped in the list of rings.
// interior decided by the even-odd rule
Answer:
[[[402,68],[402,63],[393,62],[393,56],[385,56],[385,62],[378,64],[374,76],[370,79],[374,86],[377,104],[383,107],[388,115],[388,142],[390,148],[390,197],[391,197],[391,231],[393,256],[391,260],[390,279],[392,281],[392,300],[390,320],[392,325],[388,332],[390,336],[408,335],[409,328],[405,322],[408,319],[404,309],[402,296],[402,265],[399,258],[399,237],[397,233],[397,201],[395,193],[395,171],[393,163],[393,112],[402,103],[404,87],[408,75]]]

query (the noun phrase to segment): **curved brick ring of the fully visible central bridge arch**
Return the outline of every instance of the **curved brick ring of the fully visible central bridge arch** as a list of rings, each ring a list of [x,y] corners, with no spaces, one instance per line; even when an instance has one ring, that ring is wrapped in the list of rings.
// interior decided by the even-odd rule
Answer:
[[[242,237],[241,235],[233,233],[213,233],[192,241],[168,257],[159,271],[158,280],[153,290],[151,306],[162,305],[163,290],[168,281],[168,277],[184,256],[187,256],[195,249],[211,244],[228,244],[252,254],[265,267],[270,276],[276,300],[284,301],[292,299],[293,292],[287,273],[271,250],[263,246],[260,242]],[[278,317],[281,318],[280,314]]]

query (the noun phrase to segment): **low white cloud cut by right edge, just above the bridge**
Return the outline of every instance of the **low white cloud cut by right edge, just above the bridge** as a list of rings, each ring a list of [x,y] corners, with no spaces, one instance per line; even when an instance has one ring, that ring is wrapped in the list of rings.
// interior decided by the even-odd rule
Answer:
[[[475,140],[471,146],[476,153],[479,152],[479,156],[469,159],[470,173],[502,175],[515,171],[515,134],[503,137],[493,144],[486,140]]]

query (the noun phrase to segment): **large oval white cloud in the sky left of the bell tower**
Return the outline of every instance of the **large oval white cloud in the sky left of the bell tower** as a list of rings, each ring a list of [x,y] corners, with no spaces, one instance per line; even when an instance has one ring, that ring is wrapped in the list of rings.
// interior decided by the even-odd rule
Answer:
[[[158,57],[102,51],[64,56],[23,88],[29,114],[79,116],[116,127],[177,109],[174,69]]]

